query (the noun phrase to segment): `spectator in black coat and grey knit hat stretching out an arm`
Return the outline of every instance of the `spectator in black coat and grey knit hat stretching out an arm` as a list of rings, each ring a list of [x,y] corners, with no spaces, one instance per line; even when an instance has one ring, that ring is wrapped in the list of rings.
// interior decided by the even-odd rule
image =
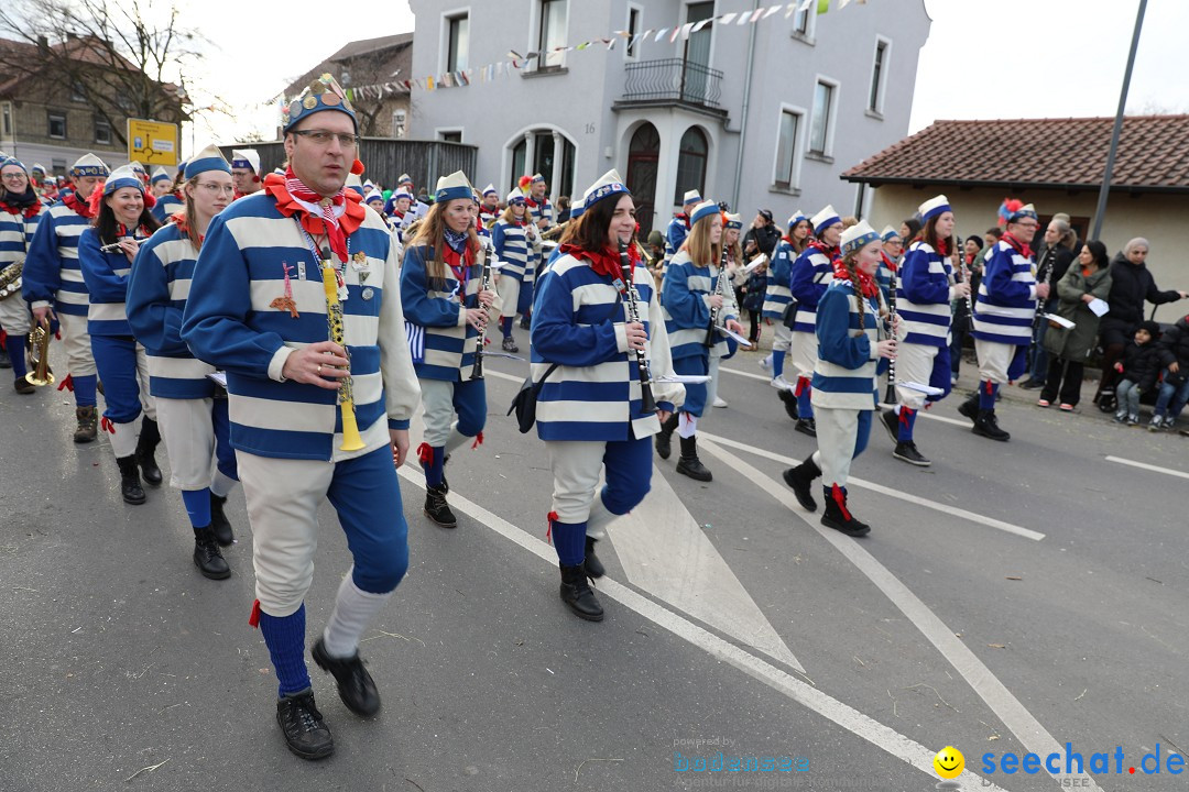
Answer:
[[[1127,242],[1122,252],[1111,262],[1111,310],[1099,324],[1099,343],[1102,346],[1102,379],[1099,381],[1097,401],[1103,393],[1114,394],[1115,361],[1122,354],[1127,340],[1135,335],[1135,328],[1144,321],[1144,300],[1153,305],[1172,303],[1189,297],[1189,292],[1160,291],[1152,273],[1147,271],[1147,252],[1151,246],[1143,236]]]

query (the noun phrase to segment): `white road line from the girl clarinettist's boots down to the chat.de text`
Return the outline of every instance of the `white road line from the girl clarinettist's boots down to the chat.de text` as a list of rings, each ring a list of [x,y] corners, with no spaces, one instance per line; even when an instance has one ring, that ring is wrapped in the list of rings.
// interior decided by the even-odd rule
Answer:
[[[709,437],[705,435],[702,435],[702,438],[709,441]],[[1012,734],[1015,735],[1028,752],[1046,756],[1051,753],[1059,754],[1064,750],[1053,736],[1040,726],[1040,722],[1007,690],[1004,683],[995,678],[990,669],[983,665],[975,657],[975,653],[954,634],[954,631],[946,627],[937,614],[930,610],[916,594],[908,590],[908,587],[901,583],[883,564],[867,552],[858,541],[837,531],[826,528],[816,520],[811,520],[788,488],[776,483],[757,468],[748,464],[734,454],[723,450],[712,442],[704,442],[702,445],[706,451],[734,468],[741,476],[756,483],[779,502],[788,507],[789,512],[801,518],[819,536],[833,545],[838,552],[845,556],[850,563],[858,568],[917,626],[917,629],[940,652],[942,657],[962,674],[974,691],[979,693],[979,697],[994,710],[995,715],[1012,730]],[[1094,780],[1084,773],[1077,775],[1050,773],[1050,775],[1058,783],[1064,778],[1086,779],[1084,781],[1078,781],[1076,785],[1082,788],[1099,788]]]

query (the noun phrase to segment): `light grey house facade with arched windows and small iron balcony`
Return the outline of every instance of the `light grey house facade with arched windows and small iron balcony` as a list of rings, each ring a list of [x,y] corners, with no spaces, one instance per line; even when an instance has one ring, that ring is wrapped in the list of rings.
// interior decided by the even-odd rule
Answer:
[[[816,2],[813,4],[817,5]],[[828,203],[862,211],[869,195],[839,173],[907,134],[924,0],[850,4],[826,14],[782,6],[754,24],[755,0],[411,0],[413,70],[482,69],[509,51],[546,51],[736,13],[687,37],[530,61],[490,82],[417,90],[411,134],[477,145],[478,186],[507,194],[541,172],[549,194],[580,195],[618,169],[644,230],[663,228],[697,189],[744,216],[778,220]]]

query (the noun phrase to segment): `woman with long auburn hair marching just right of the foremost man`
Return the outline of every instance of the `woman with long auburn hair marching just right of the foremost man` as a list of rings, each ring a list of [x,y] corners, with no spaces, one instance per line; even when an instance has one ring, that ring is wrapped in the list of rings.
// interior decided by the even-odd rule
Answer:
[[[478,448],[487,418],[484,380],[471,379],[471,370],[496,292],[480,289],[483,271],[474,260],[480,242],[471,226],[473,194],[461,171],[438,179],[434,205],[401,267],[401,303],[424,406],[424,442],[417,448],[426,471],[424,513],[443,528],[458,525],[446,502],[446,457],[471,439]]]

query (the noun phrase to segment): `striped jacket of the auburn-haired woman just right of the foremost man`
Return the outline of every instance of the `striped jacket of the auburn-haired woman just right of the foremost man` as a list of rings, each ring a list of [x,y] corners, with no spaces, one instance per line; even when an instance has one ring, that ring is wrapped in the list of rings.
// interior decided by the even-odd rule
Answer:
[[[466,283],[461,284],[446,266],[445,278],[429,278],[426,272],[429,255],[428,246],[410,247],[401,267],[401,303],[413,366],[420,378],[458,382],[468,378],[474,366],[479,331],[467,324],[466,310],[479,305],[483,272],[472,265]]]

